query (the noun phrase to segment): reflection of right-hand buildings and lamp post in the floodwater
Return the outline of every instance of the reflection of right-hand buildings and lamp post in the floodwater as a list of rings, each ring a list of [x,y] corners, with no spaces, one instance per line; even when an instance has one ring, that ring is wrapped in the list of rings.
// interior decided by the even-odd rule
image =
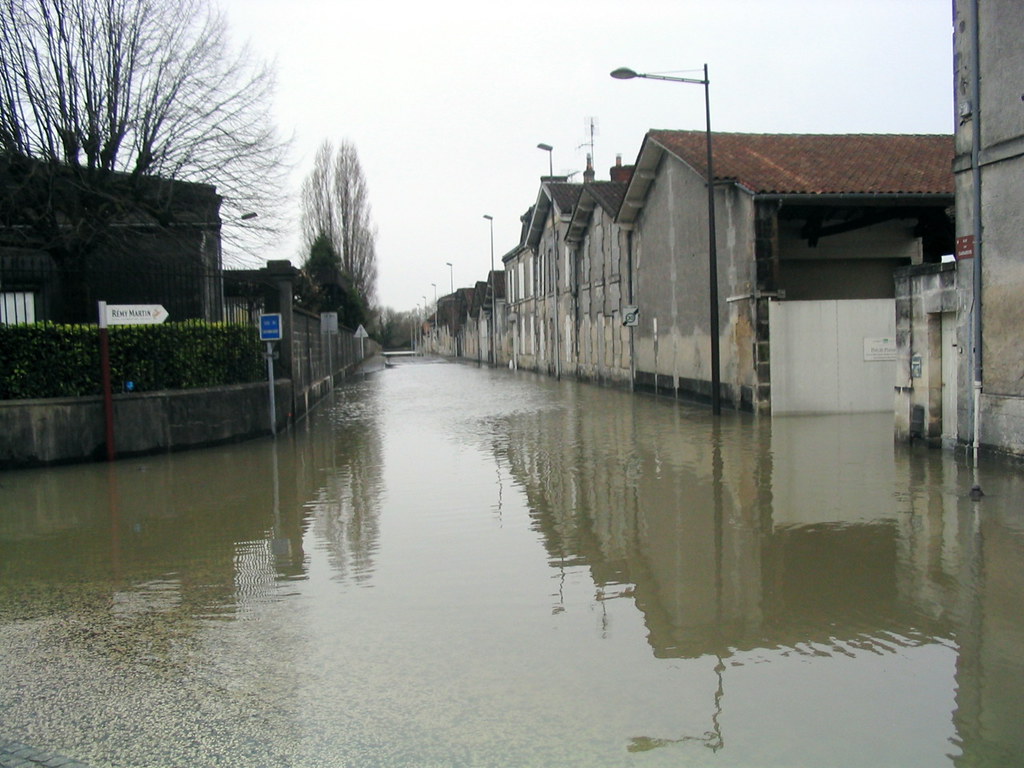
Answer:
[[[979,507],[968,499],[964,467],[948,456],[897,450],[888,420],[878,417],[717,424],[702,411],[625,396],[612,416],[606,409],[585,401],[554,417],[510,419],[507,458],[553,566],[587,566],[601,599],[634,598],[656,656],[715,659],[712,727],[635,736],[631,752],[724,745],[723,658],[735,667],[766,651],[898,657],[958,643],[961,669],[948,681],[957,687],[952,740],[964,751],[954,762],[979,764],[994,752],[995,764],[1011,765],[1024,756],[1011,714],[1024,693],[1021,621],[1004,610],[988,628],[978,626],[988,593],[978,581]],[[998,476],[1014,485],[1008,469]],[[1002,492],[1020,498],[1013,494]],[[998,567],[1008,582],[999,594],[1017,600],[1019,531],[993,527],[1009,555]],[[994,643],[993,632],[1001,636]],[[963,650],[975,645],[1004,649],[988,660],[1006,668],[1012,684],[985,685],[980,659],[967,679]],[[977,695],[994,695],[999,706],[966,711],[965,691],[979,686]],[[1007,691],[1013,701],[1002,701]],[[990,727],[977,722],[982,715]]]

